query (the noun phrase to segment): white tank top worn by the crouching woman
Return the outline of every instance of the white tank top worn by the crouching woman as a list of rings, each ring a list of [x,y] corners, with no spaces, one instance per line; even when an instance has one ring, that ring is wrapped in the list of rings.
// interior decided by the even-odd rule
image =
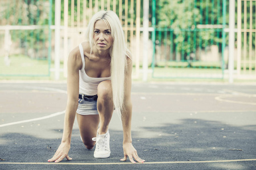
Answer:
[[[82,69],[79,70],[79,94],[84,94],[88,96],[97,95],[98,84],[104,80],[111,80],[111,76],[104,78],[93,78],[85,73],[85,59],[84,59],[84,49],[82,45],[79,44],[80,54],[82,58]]]

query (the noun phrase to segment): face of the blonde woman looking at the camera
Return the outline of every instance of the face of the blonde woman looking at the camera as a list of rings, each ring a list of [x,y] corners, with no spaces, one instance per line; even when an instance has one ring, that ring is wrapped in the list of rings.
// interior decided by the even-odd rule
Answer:
[[[93,41],[98,50],[107,50],[112,46],[111,30],[104,20],[97,20],[94,24]]]

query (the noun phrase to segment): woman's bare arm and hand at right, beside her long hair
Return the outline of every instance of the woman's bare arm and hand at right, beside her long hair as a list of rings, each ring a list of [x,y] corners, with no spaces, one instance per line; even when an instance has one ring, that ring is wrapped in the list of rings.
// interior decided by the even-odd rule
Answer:
[[[139,158],[137,151],[132,145],[131,139],[131,114],[133,109],[133,104],[131,103],[131,71],[133,69],[133,63],[130,58],[127,58],[127,72],[125,75],[125,99],[122,111],[122,126],[123,126],[123,154],[124,158],[121,159],[125,161],[127,156],[132,163],[135,163],[133,158],[139,163],[143,163],[145,160]]]

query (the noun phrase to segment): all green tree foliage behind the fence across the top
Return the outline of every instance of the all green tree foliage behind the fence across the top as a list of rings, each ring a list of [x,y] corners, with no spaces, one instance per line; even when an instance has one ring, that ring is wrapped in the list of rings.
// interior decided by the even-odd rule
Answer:
[[[152,19],[152,1],[150,0],[150,20]],[[95,10],[95,2],[92,1],[92,6]],[[122,1],[122,20],[127,19],[130,24],[131,17],[135,21],[136,3],[134,1],[134,7],[131,9],[131,2],[128,1],[129,15],[125,18],[125,3]],[[223,3],[226,2],[226,6]],[[69,20],[71,20],[71,3],[69,3]],[[78,22],[82,23],[84,19],[82,12],[89,9],[89,0],[86,1],[86,8],[84,9],[84,1],[80,1],[80,21],[77,20],[77,8],[79,5],[77,1],[74,1],[74,19],[75,25]],[[252,11],[255,11],[256,2],[242,3],[242,11],[246,6],[247,12],[250,11],[250,3],[253,3]],[[101,1],[98,1],[98,10],[100,10]],[[113,6],[113,1],[110,1],[110,6]],[[162,42],[169,45],[173,45],[174,50],[184,53],[191,53],[195,51],[195,46],[201,46],[201,48],[207,48],[209,45],[218,45],[221,50],[222,42],[222,29],[204,29],[199,28],[200,25],[222,25],[222,22],[226,20],[225,27],[228,27],[229,22],[229,0],[158,0],[156,1],[156,28],[168,29],[167,39],[162,38]],[[237,6],[237,1],[236,1]],[[104,3],[104,7],[107,4]],[[226,15],[222,14],[223,7],[226,8]],[[237,7],[236,7],[237,10]],[[52,8],[50,8],[50,1],[48,0],[10,0],[1,1],[0,7],[0,25],[46,25],[48,26],[49,14],[52,12],[52,22],[55,21],[55,0],[52,0]],[[90,12],[90,11],[88,11]],[[116,12],[119,14],[119,1],[116,4]],[[237,14],[236,14],[237,15]],[[246,14],[242,12],[242,19]],[[61,1],[61,24],[63,24],[64,18],[64,3]],[[141,23],[143,18],[143,1],[141,0]],[[247,21],[250,20],[250,15],[246,16]],[[253,19],[255,20],[255,12],[253,12]],[[88,15],[86,15],[88,21]],[[134,22],[135,23],[135,22]],[[243,22],[242,22],[243,23]],[[150,25],[152,26],[152,25]],[[250,27],[250,23],[247,22],[247,28]],[[253,22],[253,28],[255,29],[255,22]],[[19,33],[17,33],[19,32]],[[20,39],[22,46],[35,46],[37,41],[46,40],[47,30],[39,29],[38,31],[16,31],[16,35],[13,39]],[[228,33],[226,33],[226,42],[228,42]],[[156,39],[160,39],[156,35]],[[161,36],[161,35],[160,35]],[[171,42],[171,36],[173,41]],[[255,34],[253,34],[253,40],[255,40]],[[242,40],[243,41],[243,40]],[[253,47],[255,41],[253,41]]]

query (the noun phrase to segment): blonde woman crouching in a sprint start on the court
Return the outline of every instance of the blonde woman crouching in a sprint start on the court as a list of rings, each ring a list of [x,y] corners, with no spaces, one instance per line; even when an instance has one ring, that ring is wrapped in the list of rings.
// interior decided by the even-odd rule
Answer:
[[[85,37],[86,42],[69,53],[63,138],[48,162],[72,160],[68,152],[75,117],[85,147],[92,149],[96,145],[94,157],[108,158],[108,126],[115,108],[122,116],[124,157],[121,160],[128,156],[132,163],[134,159],[143,163],[131,143],[132,61],[118,16],[113,11],[97,12],[89,22]]]

